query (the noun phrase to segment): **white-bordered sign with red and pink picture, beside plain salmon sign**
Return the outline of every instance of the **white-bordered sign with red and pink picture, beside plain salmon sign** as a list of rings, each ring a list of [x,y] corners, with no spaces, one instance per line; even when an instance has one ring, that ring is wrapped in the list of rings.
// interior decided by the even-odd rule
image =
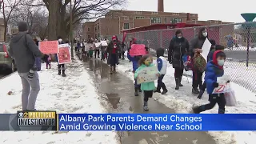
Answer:
[[[65,45],[65,44],[64,44]],[[59,53],[58,56],[58,64],[70,63],[71,55],[70,55],[70,46],[59,46]]]

